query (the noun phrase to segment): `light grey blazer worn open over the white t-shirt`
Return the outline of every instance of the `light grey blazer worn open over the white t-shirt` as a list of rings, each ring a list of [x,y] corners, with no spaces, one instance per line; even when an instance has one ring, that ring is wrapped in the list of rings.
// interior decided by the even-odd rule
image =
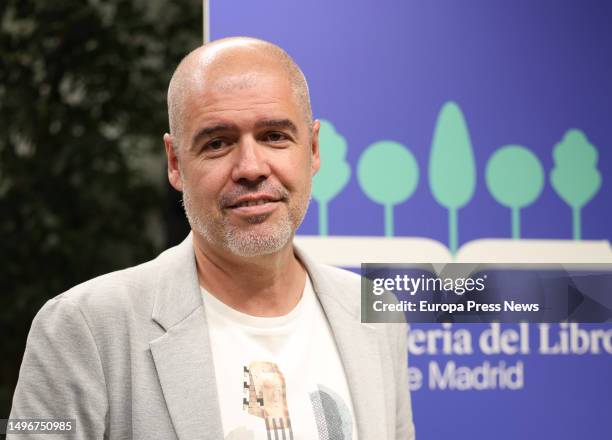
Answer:
[[[336,339],[359,439],[413,439],[405,326],[361,324],[360,277],[296,251]],[[223,438],[191,235],[43,306],[11,418],[74,418],[80,439]]]

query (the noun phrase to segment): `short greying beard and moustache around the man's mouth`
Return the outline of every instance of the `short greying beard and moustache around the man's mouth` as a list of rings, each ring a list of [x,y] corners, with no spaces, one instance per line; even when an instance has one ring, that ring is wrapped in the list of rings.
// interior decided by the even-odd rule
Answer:
[[[287,210],[283,210],[281,218],[269,217],[279,213],[253,216],[248,218],[247,225],[234,225],[230,222],[225,209],[231,205],[231,200],[249,193],[263,191],[274,194],[285,203]],[[191,188],[183,181],[183,207],[191,228],[198,232],[207,242],[217,244],[230,253],[240,257],[256,257],[269,255],[281,250],[293,237],[308,207],[310,188],[306,197],[296,197],[294,204],[290,203],[289,191],[286,188],[263,182],[256,187],[240,187],[228,194],[224,194],[217,206],[216,213],[210,213],[198,206],[192,197]]]

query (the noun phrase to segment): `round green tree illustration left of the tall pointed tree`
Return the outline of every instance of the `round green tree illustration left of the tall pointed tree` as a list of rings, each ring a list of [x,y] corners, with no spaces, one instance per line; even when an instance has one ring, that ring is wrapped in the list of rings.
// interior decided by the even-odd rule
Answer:
[[[359,158],[357,179],[368,198],[385,207],[385,235],[393,236],[393,206],[408,200],[419,181],[413,154],[397,142],[376,142]]]

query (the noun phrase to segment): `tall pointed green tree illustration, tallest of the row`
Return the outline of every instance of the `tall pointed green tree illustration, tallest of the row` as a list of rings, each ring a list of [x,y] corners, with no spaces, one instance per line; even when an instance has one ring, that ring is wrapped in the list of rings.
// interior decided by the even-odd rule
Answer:
[[[436,201],[448,209],[448,247],[454,254],[459,242],[457,211],[476,188],[476,163],[465,118],[459,106],[442,106],[429,156],[429,187]]]

